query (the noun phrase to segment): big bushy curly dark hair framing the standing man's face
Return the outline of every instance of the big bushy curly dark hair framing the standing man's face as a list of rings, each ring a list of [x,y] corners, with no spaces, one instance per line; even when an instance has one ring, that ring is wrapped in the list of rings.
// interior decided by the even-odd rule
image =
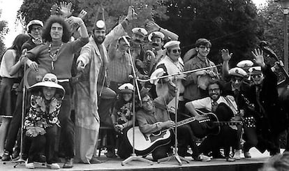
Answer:
[[[42,32],[42,38],[45,41],[49,41],[49,42],[52,41],[52,38],[50,36],[50,30],[51,30],[53,23],[59,23],[62,26],[63,35],[62,35],[61,40],[62,40],[62,42],[67,43],[71,38],[71,27],[64,20],[63,17],[60,17],[58,15],[53,15],[53,16],[49,17],[48,20],[45,22],[44,29]]]

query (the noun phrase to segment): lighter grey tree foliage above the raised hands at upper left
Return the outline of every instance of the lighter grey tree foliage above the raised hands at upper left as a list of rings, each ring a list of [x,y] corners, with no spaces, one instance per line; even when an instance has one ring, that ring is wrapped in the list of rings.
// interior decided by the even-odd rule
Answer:
[[[26,23],[34,19],[45,22],[50,16],[50,7],[54,3],[59,4],[61,1],[63,0],[24,0],[17,16],[24,18]],[[138,0],[132,1],[132,3],[128,0],[66,0],[66,2],[73,3],[73,9],[75,10],[73,15],[77,15],[82,9],[87,11],[84,22],[89,29],[92,29],[94,25],[98,7],[103,4],[105,8],[105,24],[108,31],[118,23],[119,16],[127,14],[128,6],[130,5],[135,7],[135,11],[138,13],[138,20],[133,20],[128,30],[133,27],[144,27],[145,21],[152,20],[153,16],[165,19],[167,17],[165,15],[166,7],[160,6],[161,1],[165,0]]]

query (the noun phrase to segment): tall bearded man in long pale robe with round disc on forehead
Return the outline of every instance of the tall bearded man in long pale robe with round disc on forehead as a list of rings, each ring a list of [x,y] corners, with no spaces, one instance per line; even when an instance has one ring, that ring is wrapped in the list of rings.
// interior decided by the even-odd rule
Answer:
[[[99,126],[100,124],[113,126],[109,111],[111,101],[114,101],[116,94],[108,88],[106,48],[112,40],[117,40],[125,34],[124,29],[128,22],[133,20],[133,15],[136,14],[130,6],[125,20],[114,27],[107,36],[105,36],[104,18],[102,17],[101,20],[97,18],[89,43],[82,47],[80,57],[77,59],[77,69],[85,68],[84,75],[87,75],[81,78],[76,86],[76,157],[82,163],[99,162],[96,158],[92,158]],[[98,103],[99,97],[100,103]]]

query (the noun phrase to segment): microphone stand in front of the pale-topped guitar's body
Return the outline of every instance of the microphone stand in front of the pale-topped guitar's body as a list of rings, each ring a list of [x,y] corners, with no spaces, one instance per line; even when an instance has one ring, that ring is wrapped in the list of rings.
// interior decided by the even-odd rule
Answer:
[[[124,40],[126,40],[125,37],[124,37]],[[126,42],[127,42],[127,40],[126,40]],[[128,43],[128,46],[130,46],[129,43]],[[131,154],[131,156],[126,158],[124,161],[122,161],[121,165],[124,165],[128,162],[131,162],[131,161],[143,161],[145,163],[149,163],[149,165],[153,165],[152,161],[149,161],[146,158],[142,158],[142,157],[137,156],[135,154],[135,89],[138,91],[138,98],[139,98],[140,102],[142,101],[142,99],[140,98],[140,89],[138,87],[138,80],[137,80],[137,76],[135,73],[135,65],[133,63],[133,57],[131,56],[131,50],[129,50],[129,49],[128,49],[128,55],[129,55],[130,60],[131,60],[131,67],[133,68],[133,89],[134,89],[134,94],[133,94],[133,153]]]

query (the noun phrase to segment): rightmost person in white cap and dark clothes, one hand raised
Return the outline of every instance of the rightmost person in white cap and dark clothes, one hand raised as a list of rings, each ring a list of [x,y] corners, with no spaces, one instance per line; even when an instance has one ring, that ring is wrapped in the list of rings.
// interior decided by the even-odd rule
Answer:
[[[249,101],[255,107],[255,117],[258,135],[257,149],[270,155],[280,153],[279,137],[288,128],[288,116],[279,101],[278,78],[272,68],[265,64],[263,52],[252,52],[257,66],[249,69],[253,85],[249,91]]]

